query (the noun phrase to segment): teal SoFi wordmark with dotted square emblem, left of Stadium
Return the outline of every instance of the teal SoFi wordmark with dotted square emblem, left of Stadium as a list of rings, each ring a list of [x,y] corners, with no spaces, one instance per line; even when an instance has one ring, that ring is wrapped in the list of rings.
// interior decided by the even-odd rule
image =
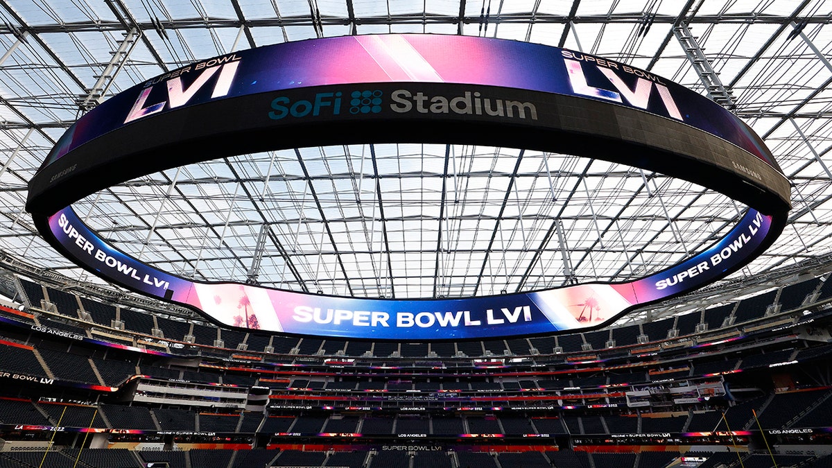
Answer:
[[[299,99],[294,102],[289,97],[275,97],[271,102],[272,110],[269,112],[269,118],[280,120],[285,117],[300,118],[310,115],[317,117],[324,113],[337,116],[342,112],[377,114],[381,112],[382,95],[383,93],[378,89],[353,91],[349,93],[349,100],[347,100],[349,106],[344,106],[344,93],[340,91],[318,92],[311,99]]]

